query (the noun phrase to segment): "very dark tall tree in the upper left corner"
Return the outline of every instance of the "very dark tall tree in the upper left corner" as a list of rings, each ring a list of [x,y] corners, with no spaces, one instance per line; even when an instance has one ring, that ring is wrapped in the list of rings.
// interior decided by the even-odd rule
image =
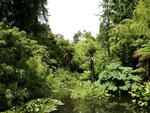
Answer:
[[[47,21],[47,0],[1,0],[0,21],[27,33],[38,33],[39,19]]]

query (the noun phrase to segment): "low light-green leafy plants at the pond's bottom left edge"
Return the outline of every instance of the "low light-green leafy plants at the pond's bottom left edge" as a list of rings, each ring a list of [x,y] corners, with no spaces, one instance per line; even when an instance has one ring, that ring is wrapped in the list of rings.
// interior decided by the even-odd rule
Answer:
[[[56,105],[63,105],[61,101],[44,98],[31,100],[28,103],[19,106],[13,107],[10,110],[6,111],[8,113],[50,113],[56,109]]]

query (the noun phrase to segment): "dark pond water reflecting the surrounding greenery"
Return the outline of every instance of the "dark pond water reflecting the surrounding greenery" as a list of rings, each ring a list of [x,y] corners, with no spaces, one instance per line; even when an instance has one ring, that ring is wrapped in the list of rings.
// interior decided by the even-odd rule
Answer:
[[[150,113],[149,110],[134,105],[129,97],[93,101],[66,97],[62,102],[65,105],[58,106],[58,110],[52,113]]]

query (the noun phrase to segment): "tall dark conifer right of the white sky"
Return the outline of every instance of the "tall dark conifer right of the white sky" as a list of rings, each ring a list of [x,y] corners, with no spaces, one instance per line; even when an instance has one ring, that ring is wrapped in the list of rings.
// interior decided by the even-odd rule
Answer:
[[[110,56],[110,29],[112,24],[118,24],[124,19],[130,19],[138,0],[103,0],[101,7],[100,31],[98,40],[106,48]]]

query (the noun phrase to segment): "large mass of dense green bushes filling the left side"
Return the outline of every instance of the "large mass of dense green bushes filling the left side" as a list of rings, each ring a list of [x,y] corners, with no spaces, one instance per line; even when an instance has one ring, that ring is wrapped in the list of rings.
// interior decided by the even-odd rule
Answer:
[[[4,99],[1,105],[12,107],[46,95],[45,91],[50,88],[44,83],[50,73],[49,66],[44,62],[48,56],[46,47],[27,38],[26,33],[19,32],[18,28],[10,29],[1,23],[0,29],[0,95]]]

